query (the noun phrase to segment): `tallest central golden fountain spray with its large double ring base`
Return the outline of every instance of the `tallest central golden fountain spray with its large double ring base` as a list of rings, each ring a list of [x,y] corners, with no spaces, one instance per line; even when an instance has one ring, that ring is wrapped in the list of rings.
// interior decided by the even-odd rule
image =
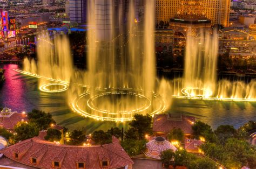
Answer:
[[[153,115],[165,110],[165,100],[154,93],[154,1],[146,1],[144,26],[138,25],[135,1],[130,1],[124,24],[122,2],[116,10],[114,1],[88,1],[84,79],[90,89],[72,102],[72,108],[86,117],[127,121],[136,113]]]

